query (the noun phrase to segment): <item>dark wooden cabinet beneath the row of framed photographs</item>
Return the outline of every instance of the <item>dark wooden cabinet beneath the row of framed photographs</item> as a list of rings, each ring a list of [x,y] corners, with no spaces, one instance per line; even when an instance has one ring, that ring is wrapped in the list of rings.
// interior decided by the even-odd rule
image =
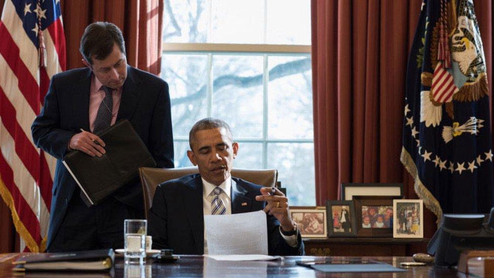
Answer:
[[[332,237],[304,239],[310,256],[411,256],[426,253],[430,239],[393,239],[392,237]]]

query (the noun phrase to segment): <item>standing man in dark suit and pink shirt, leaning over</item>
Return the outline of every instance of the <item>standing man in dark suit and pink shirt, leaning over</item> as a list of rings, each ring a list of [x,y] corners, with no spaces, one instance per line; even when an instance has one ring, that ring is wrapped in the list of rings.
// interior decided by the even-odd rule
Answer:
[[[127,65],[118,27],[89,25],[80,42],[86,68],[53,76],[45,105],[32,124],[36,146],[58,158],[53,182],[47,250],[74,251],[123,247],[123,220],[142,218],[137,180],[89,207],[62,160],[68,151],[105,154],[96,133],[128,119],[158,167],[173,167],[173,137],[168,84]]]

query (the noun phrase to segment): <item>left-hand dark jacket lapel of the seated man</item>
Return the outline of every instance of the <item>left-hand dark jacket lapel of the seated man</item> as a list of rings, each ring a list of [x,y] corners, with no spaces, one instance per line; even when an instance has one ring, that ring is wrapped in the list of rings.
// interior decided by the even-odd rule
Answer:
[[[196,175],[186,186],[187,190],[184,190],[182,195],[182,204],[187,212],[197,252],[202,254],[204,252],[204,214],[202,211],[202,180],[200,175]]]

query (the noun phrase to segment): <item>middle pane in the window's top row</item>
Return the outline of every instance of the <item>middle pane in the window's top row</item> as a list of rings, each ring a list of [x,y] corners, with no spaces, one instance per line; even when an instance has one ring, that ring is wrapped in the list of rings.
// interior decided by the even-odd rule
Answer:
[[[212,2],[211,43],[264,43],[263,0]]]

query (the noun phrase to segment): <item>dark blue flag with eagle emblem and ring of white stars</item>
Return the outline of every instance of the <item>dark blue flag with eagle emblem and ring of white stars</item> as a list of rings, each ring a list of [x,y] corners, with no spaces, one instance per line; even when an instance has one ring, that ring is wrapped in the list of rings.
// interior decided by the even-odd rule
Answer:
[[[406,76],[401,162],[442,213],[493,205],[489,91],[471,0],[424,0]]]

